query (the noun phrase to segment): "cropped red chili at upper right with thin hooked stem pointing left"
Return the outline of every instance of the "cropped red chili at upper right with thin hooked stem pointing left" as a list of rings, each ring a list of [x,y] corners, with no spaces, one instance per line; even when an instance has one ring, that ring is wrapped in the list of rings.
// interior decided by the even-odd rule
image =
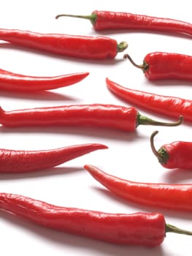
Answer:
[[[128,54],[123,57],[142,69],[149,80],[192,80],[192,56],[179,53],[148,53],[141,65],[136,64]]]

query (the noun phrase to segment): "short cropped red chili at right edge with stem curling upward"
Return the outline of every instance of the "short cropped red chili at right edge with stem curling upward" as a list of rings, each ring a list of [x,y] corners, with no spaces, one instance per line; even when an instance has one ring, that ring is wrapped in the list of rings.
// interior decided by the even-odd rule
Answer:
[[[188,141],[174,141],[164,144],[156,151],[153,140],[158,131],[150,136],[150,146],[153,153],[158,158],[158,162],[165,168],[192,170],[192,143]]]

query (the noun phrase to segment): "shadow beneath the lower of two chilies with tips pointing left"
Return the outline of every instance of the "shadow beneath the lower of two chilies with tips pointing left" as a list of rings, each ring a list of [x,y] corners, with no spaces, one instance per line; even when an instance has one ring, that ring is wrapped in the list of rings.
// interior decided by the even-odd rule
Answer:
[[[192,220],[192,216],[191,216],[191,212],[182,212],[182,211],[172,211],[169,209],[163,209],[163,208],[158,208],[158,207],[154,207],[154,206],[142,206],[139,205],[138,203],[132,203],[132,202],[128,202],[127,200],[118,197],[118,195],[114,195],[112,194],[112,192],[107,191],[107,189],[101,188],[101,187],[93,187],[93,189],[96,190],[97,193],[100,194],[100,197],[104,196],[104,197],[110,197],[111,200],[114,200],[114,202],[126,205],[128,207],[131,207],[134,210],[134,212],[138,212],[138,211],[143,211],[143,212],[161,212],[161,214],[164,214],[164,216],[166,217],[174,217],[174,218],[183,218],[183,219],[188,219],[188,220]]]

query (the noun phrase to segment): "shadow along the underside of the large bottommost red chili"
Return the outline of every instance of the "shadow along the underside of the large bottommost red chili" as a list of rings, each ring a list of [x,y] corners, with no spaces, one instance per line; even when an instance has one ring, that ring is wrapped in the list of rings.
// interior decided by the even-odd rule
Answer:
[[[70,233],[64,233],[58,230],[51,230],[47,227],[41,227],[35,225],[34,223],[26,221],[21,217],[15,216],[14,214],[9,214],[8,212],[4,212],[0,210],[0,217],[4,219],[5,222],[11,223],[13,226],[17,227],[20,230],[23,230],[23,236],[28,235],[31,238],[31,233],[36,237],[43,238],[43,241],[51,244],[59,245],[60,248],[66,249],[67,247],[75,248],[76,252],[80,252],[85,250],[85,254],[90,252],[90,255],[93,255],[94,252],[98,255],[105,256],[164,256],[166,255],[163,249],[163,246],[156,246],[153,248],[147,248],[144,246],[118,246],[117,244],[108,244],[102,241],[96,241],[91,238],[84,238],[83,236],[77,236]],[[6,239],[6,236],[4,236]],[[9,238],[7,238],[9,239]],[[43,242],[40,239],[40,243]],[[32,244],[32,242],[31,242]],[[20,238],[20,245],[22,245],[22,238]],[[46,244],[47,246],[47,244]]]

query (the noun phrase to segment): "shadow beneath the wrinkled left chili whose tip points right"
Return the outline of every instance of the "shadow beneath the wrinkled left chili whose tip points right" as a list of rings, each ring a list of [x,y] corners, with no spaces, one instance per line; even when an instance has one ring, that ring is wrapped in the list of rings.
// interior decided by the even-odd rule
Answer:
[[[23,173],[0,173],[0,181],[23,179],[23,178],[41,178],[41,177],[58,176],[58,175],[61,176],[61,175],[67,175],[69,173],[76,173],[80,171],[83,171],[82,167],[56,166],[53,168],[47,168],[45,170],[35,170],[35,171],[23,172]]]

